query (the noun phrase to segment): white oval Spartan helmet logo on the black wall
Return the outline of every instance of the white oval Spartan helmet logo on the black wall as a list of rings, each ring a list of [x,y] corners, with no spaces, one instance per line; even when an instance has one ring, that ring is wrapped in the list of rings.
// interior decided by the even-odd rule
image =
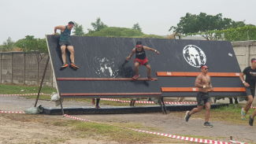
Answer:
[[[189,65],[200,68],[201,65],[206,64],[206,54],[194,45],[187,45],[184,47],[183,56]]]

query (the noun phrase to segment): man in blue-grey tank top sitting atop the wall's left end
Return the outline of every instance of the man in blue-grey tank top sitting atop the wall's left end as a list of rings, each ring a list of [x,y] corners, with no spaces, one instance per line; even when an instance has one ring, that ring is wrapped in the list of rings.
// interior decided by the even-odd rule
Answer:
[[[74,51],[74,47],[71,45],[70,43],[70,35],[71,35],[71,30],[74,27],[74,23],[72,21],[69,21],[69,24],[64,26],[64,25],[59,25],[56,26],[54,28],[54,35],[56,34],[56,31],[59,29],[61,30],[61,37],[60,37],[60,46],[61,46],[61,54],[62,54],[62,61],[63,61],[63,65],[61,66],[61,68],[66,68],[67,66],[69,66],[66,63],[66,55],[65,55],[65,50],[68,49],[70,52],[70,60],[71,60],[71,66],[72,68],[78,68],[75,65],[75,51]]]

